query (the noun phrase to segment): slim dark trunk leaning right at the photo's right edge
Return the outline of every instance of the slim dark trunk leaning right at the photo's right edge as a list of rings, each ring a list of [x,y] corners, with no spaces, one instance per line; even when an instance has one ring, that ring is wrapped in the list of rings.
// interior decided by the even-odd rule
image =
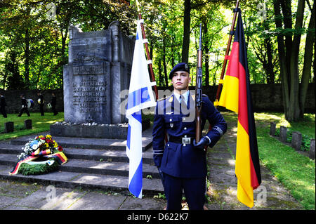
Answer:
[[[301,81],[301,88],[300,88],[300,107],[301,107],[301,114],[300,117],[303,118],[304,111],[305,111],[305,100],[306,100],[306,93],[308,91],[308,83],[311,77],[311,68],[312,68],[312,48],[315,43],[315,32],[312,32],[312,29],[315,30],[315,1],[312,6],[312,15],[310,16],[310,24],[308,25],[308,32],[306,35],[305,41],[305,53],[304,53],[304,65],[303,65],[303,74],[302,74],[302,81]],[[315,48],[314,48],[315,51]],[[314,57],[315,63],[315,57]],[[315,73],[314,73],[315,76]]]

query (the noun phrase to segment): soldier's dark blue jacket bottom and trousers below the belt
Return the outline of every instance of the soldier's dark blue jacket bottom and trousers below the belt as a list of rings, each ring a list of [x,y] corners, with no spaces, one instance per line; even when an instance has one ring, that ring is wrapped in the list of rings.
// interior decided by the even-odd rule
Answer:
[[[190,210],[203,209],[206,180],[204,151],[195,149],[192,143],[184,145],[169,141],[159,169],[168,210],[181,209],[183,190]]]

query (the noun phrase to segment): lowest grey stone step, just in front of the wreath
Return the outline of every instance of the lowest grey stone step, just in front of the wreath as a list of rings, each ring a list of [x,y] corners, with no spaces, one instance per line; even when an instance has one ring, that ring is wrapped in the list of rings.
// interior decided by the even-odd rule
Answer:
[[[86,188],[111,190],[129,194],[128,176],[111,176],[104,174],[77,173],[68,171],[54,171],[43,175],[23,176],[21,174],[10,176],[11,166],[0,165],[0,178],[5,180],[18,180],[55,187]],[[160,179],[143,178],[143,195],[157,195],[163,193],[164,188]]]

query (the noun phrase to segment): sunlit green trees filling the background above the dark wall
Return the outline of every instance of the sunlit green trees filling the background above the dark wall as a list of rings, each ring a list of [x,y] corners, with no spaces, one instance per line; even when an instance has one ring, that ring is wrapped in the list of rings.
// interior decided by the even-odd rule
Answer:
[[[193,76],[202,24],[204,86],[218,84],[235,1],[139,0],[158,86],[188,62]],[[315,81],[315,0],[240,1],[252,84],[282,84],[289,120],[303,115]],[[0,1],[0,88],[62,88],[68,27],[136,33],[136,0]],[[192,86],[195,79],[192,79]],[[301,86],[301,87],[300,87]]]

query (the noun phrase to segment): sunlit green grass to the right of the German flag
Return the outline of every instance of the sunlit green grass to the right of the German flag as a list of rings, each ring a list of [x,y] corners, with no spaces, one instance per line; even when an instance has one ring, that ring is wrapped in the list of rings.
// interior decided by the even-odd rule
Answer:
[[[223,112],[227,121],[237,124],[237,114]],[[315,138],[315,114],[305,114],[303,121],[289,123],[281,113],[255,113],[258,151],[261,164],[291,192],[305,209],[315,209],[315,160],[270,137],[270,122]],[[235,124],[234,123],[234,124]]]

